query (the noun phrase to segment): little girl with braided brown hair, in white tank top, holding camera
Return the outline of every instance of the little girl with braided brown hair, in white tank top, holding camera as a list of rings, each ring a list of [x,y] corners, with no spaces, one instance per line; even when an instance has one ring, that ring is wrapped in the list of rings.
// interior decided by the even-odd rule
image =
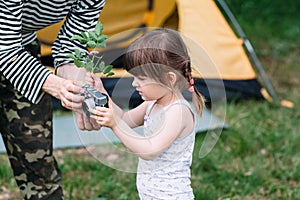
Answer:
[[[140,199],[194,199],[190,166],[196,116],[182,90],[192,93],[200,116],[204,100],[194,87],[182,38],[174,30],[152,30],[128,47],[124,64],[144,102],[123,112],[110,100],[109,108],[90,110],[91,117],[111,128],[139,156],[136,184]],[[141,125],[143,135],[133,130]]]

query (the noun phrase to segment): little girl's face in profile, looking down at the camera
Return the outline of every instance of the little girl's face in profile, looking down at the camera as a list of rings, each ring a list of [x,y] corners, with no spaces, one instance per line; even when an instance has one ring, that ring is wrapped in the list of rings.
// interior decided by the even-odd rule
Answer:
[[[134,76],[132,86],[145,101],[158,100],[170,93],[170,89],[146,76]]]

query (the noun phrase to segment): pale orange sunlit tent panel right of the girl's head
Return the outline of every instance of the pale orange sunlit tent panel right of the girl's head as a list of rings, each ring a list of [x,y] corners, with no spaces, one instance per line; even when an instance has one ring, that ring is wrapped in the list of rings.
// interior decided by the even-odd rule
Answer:
[[[212,0],[177,0],[179,31],[196,42],[214,61],[213,67],[198,68],[205,78],[229,80],[253,79],[255,72],[243,49],[243,41],[235,36],[228,22]],[[191,52],[192,63],[197,63],[197,52]],[[198,59],[200,60],[200,59]],[[221,77],[218,77],[221,76]]]

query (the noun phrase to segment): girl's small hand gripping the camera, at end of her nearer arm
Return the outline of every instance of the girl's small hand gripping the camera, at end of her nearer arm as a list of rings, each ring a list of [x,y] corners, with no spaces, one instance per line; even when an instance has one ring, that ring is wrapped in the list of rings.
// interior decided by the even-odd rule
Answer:
[[[95,119],[100,126],[106,126],[114,128],[117,125],[115,115],[111,108],[96,106],[95,109],[91,109],[90,117]]]

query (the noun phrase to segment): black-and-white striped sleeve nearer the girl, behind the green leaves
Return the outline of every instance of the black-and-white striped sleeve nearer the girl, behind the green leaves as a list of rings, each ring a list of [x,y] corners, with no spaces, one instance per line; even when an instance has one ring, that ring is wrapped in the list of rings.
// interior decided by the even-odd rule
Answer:
[[[95,28],[100,12],[103,9],[105,0],[80,0],[74,5],[68,14],[59,34],[52,45],[52,56],[54,66],[72,63],[66,55],[74,52],[74,49],[87,51],[86,46],[79,42],[71,42],[70,38],[74,34],[80,34],[82,31],[91,31]]]

